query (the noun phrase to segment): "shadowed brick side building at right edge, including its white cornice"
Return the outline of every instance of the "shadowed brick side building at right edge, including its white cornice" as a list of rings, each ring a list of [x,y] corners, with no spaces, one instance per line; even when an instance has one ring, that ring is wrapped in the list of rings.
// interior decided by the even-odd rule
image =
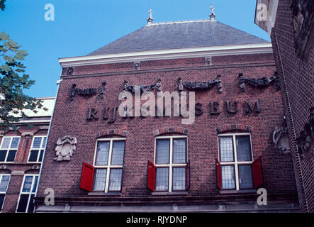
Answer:
[[[271,36],[283,84],[283,101],[301,211],[314,211],[314,3],[257,1],[268,7],[257,25]],[[260,9],[257,9],[259,11]],[[311,113],[312,112],[312,113]]]

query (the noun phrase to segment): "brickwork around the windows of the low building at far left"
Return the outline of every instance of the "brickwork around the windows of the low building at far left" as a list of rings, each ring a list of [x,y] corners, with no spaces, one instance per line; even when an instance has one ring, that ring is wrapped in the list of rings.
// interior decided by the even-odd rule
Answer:
[[[44,124],[43,124],[44,125]],[[47,129],[40,129],[40,126],[28,128],[21,126],[17,131],[9,131],[4,136],[21,136],[18,151],[13,163],[0,162],[0,174],[10,174],[9,187],[4,200],[3,213],[13,213],[16,211],[18,197],[21,192],[23,174],[38,175],[40,163],[28,163],[28,155],[33,142],[33,136],[47,135]],[[0,137],[0,143],[2,140]],[[18,172],[16,175],[15,172]]]

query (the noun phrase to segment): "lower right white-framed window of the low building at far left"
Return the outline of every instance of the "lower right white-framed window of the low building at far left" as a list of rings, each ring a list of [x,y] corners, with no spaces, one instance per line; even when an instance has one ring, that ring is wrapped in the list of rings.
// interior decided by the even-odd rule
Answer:
[[[35,210],[34,197],[37,191],[38,175],[24,175],[16,212],[33,213]]]

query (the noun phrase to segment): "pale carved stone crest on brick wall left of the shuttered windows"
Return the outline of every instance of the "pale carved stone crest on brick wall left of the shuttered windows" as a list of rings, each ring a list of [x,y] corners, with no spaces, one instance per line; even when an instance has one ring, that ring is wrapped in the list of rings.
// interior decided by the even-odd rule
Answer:
[[[56,161],[69,161],[77,150],[77,138],[71,135],[65,135],[57,140],[55,148]]]

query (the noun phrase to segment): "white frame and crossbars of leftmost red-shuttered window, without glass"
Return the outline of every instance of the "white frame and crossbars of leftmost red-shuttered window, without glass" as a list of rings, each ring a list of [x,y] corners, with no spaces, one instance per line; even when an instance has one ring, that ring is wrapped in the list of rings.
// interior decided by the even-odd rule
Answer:
[[[108,162],[107,165],[96,165],[96,157],[97,157],[97,148],[99,142],[109,142],[109,152],[108,152]],[[111,165],[112,162],[112,151],[113,151],[113,141],[124,141],[124,151],[123,151],[123,161],[122,165]],[[125,157],[125,144],[126,144],[126,138],[101,138],[96,140],[96,146],[94,150],[94,161],[93,161],[93,167],[94,167],[94,179],[93,179],[93,187],[91,192],[121,192],[122,190],[122,183],[123,183],[123,169],[124,169],[124,157]],[[96,177],[96,170],[98,169],[106,169],[106,182],[105,182],[105,189],[104,190],[94,190],[94,183],[95,177]],[[109,190],[109,184],[110,184],[110,175],[111,175],[111,169],[121,169],[122,170],[122,176],[121,176],[121,185],[120,190]]]

